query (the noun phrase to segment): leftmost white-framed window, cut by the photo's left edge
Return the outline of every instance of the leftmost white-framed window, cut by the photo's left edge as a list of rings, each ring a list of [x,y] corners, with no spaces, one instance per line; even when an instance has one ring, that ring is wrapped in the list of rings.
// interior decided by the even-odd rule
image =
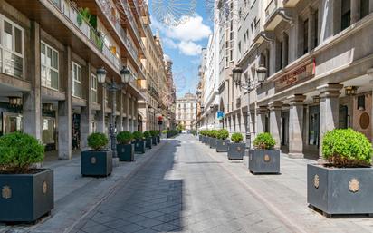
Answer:
[[[0,72],[24,78],[24,29],[0,15]]]

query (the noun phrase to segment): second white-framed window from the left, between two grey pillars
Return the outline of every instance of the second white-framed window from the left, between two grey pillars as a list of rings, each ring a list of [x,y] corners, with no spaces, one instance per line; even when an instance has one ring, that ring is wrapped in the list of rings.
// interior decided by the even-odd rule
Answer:
[[[48,44],[41,44],[42,85],[58,90],[58,52]]]

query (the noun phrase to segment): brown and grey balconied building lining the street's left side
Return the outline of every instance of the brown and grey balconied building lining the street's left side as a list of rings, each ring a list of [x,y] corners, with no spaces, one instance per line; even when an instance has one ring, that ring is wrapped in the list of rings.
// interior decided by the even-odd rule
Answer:
[[[139,130],[147,14],[131,0],[0,0],[1,133],[33,134],[71,159],[91,132],[109,132],[111,114],[116,131]],[[123,67],[131,80],[115,95],[98,83],[99,68],[121,83]]]

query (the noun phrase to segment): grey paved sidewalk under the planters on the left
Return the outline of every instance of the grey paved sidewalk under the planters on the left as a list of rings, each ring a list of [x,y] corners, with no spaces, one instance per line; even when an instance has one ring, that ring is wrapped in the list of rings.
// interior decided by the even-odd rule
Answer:
[[[135,154],[134,162],[120,162],[113,168],[108,178],[90,178],[81,176],[81,157],[72,160],[55,160],[43,163],[54,170],[54,209],[52,215],[43,218],[38,224],[5,226],[0,224],[0,233],[5,232],[69,232],[91,209],[106,199],[122,182],[129,180],[144,166],[167,142],[147,150],[144,154]]]

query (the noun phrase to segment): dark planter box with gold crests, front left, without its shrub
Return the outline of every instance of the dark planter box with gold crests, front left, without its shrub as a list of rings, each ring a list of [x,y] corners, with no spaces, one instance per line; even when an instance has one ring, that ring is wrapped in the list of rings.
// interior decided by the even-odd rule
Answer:
[[[54,205],[53,170],[0,174],[0,221],[34,222]]]

